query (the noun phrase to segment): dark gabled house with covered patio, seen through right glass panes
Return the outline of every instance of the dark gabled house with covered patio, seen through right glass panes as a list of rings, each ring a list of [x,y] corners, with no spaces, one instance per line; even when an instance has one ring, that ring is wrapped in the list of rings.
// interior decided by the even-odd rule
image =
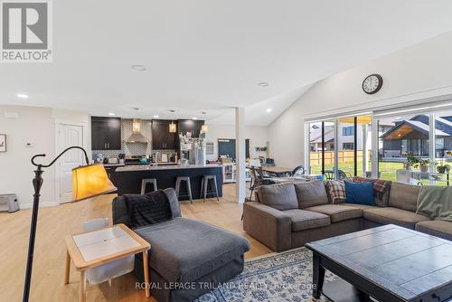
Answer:
[[[380,136],[381,156],[403,157],[409,153],[428,156],[428,119],[427,115],[418,115],[396,121]],[[452,117],[436,118],[435,127],[436,157],[444,157],[447,151],[452,150]]]

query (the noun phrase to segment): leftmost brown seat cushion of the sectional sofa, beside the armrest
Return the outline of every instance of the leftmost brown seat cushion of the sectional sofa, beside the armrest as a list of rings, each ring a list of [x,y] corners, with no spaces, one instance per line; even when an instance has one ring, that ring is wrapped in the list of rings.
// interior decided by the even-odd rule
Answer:
[[[331,224],[330,218],[319,212],[310,212],[299,209],[282,212],[290,217],[290,220],[292,221],[292,231],[321,228]],[[289,235],[287,234],[287,236]]]

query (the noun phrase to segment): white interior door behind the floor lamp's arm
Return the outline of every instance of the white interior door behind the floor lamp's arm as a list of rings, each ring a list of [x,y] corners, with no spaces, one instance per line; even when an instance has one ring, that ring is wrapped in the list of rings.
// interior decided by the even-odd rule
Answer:
[[[57,154],[70,146],[83,146],[83,127],[58,124]],[[71,202],[72,169],[83,165],[83,152],[72,149],[60,157],[57,163],[57,186],[60,203]]]

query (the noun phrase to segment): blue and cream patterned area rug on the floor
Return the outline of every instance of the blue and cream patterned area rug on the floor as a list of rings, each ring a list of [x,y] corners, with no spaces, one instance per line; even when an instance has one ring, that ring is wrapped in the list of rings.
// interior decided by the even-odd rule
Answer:
[[[335,278],[326,271],[325,282]],[[239,276],[195,302],[328,301],[311,294],[312,252],[300,248],[246,261]]]

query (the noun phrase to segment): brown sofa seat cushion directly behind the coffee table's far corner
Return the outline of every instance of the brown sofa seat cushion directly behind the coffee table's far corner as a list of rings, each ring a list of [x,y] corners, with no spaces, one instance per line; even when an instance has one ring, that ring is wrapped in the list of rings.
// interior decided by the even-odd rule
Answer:
[[[363,217],[369,221],[381,224],[397,224],[414,230],[418,222],[428,221],[428,218],[415,212],[400,210],[393,207],[373,207],[363,210]]]

